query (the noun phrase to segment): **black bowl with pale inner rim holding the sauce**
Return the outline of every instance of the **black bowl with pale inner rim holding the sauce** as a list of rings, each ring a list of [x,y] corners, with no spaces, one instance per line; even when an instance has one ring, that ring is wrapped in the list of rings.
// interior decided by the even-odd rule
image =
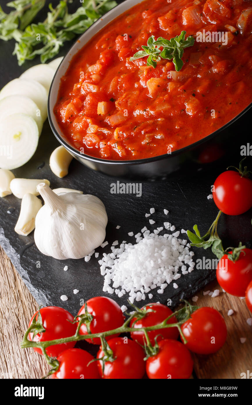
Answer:
[[[80,153],[80,151],[75,149],[64,136],[64,133],[59,127],[53,113],[54,106],[57,102],[61,77],[65,75],[73,56],[78,53],[78,51],[83,48],[83,46],[89,42],[98,31],[124,11],[127,11],[140,2],[140,0],[126,0],[109,11],[101,19],[97,20],[83,35],[80,36],[80,38],[78,38],[78,41],[74,43],[62,60],[57,72],[55,73],[48,98],[49,123],[57,140],[82,164],[102,173],[117,177],[162,177],[164,175],[169,175],[169,173],[172,173],[183,166],[187,166],[188,168],[188,166],[192,167],[192,165],[194,166],[195,164],[200,164],[202,166],[203,164],[211,163],[224,156],[227,150],[229,156],[232,152],[237,152],[237,148],[240,148],[242,141],[244,143],[246,142],[245,137],[241,138],[240,134],[243,129],[244,134],[247,132],[246,128],[248,128],[250,116],[249,110],[252,107],[252,103],[250,103],[246,109],[241,111],[239,115],[234,117],[227,124],[200,141],[182,149],[178,149],[170,154],[155,156],[152,158],[122,161],[94,158],[84,153]]]

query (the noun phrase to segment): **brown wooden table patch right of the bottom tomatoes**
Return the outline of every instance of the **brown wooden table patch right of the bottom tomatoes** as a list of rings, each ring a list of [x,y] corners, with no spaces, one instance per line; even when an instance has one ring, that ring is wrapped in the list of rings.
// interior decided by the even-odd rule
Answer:
[[[220,295],[211,298],[203,296],[203,291],[220,290]],[[207,306],[218,309],[224,316],[227,324],[227,341],[215,354],[209,356],[193,355],[195,373],[198,378],[241,378],[241,373],[252,372],[252,326],[246,322],[252,314],[246,307],[245,300],[222,292],[217,281],[210,283],[206,288],[197,293],[199,307]],[[227,315],[233,309],[231,316]],[[240,337],[245,337],[245,343],[240,342]]]

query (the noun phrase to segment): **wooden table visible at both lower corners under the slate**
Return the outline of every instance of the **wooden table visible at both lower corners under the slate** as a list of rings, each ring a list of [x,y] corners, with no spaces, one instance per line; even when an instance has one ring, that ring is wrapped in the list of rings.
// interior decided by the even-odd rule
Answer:
[[[252,326],[246,320],[252,314],[245,300],[223,293],[217,281],[204,291],[220,289],[216,298],[203,296],[199,291],[197,305],[212,306],[225,318],[227,342],[211,356],[194,355],[195,375],[198,378],[241,378],[241,373],[252,372]],[[49,367],[44,358],[32,349],[21,349],[19,344],[38,304],[21,280],[19,274],[0,247],[0,378],[40,378]],[[234,314],[227,316],[229,309]],[[246,337],[241,344],[240,337]]]

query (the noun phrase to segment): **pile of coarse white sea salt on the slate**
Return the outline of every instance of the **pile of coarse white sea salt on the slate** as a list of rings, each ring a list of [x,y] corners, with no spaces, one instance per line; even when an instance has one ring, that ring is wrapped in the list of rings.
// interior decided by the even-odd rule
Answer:
[[[175,229],[169,222],[165,222],[164,227]],[[144,227],[142,233],[135,235],[135,244],[123,241],[119,247],[112,245],[111,253],[103,253],[99,264],[104,276],[104,292],[119,297],[128,293],[133,303],[145,300],[155,289],[163,294],[169,283],[193,271],[191,245],[186,239],[178,239],[179,231],[160,235],[162,230],[160,227],[150,232]],[[173,286],[177,288],[176,283]],[[152,294],[148,295],[150,298]]]

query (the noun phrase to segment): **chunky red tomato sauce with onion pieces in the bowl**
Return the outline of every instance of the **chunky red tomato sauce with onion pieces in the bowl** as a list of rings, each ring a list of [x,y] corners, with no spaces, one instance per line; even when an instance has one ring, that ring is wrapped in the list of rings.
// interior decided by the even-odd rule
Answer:
[[[165,59],[156,68],[146,66],[147,57],[129,61],[149,36],[170,39],[182,30],[195,43],[184,50],[180,72]],[[226,33],[226,44],[197,42],[203,30],[205,38]],[[190,145],[252,101],[251,33],[251,1],[144,1],[72,59],[54,110],[59,125],[74,147],[103,159],[142,159]]]

